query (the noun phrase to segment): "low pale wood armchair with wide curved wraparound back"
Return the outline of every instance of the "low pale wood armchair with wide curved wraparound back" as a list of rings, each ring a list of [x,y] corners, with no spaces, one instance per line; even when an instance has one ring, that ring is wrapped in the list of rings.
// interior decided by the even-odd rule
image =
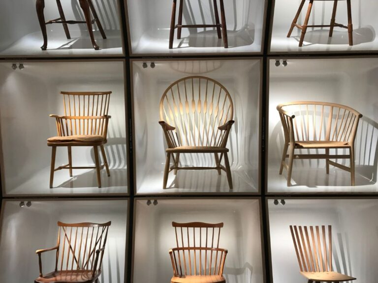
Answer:
[[[277,110],[280,113],[285,139],[280,175],[286,168],[287,186],[291,184],[294,159],[326,159],[327,174],[329,165],[346,170],[350,172],[351,185],[354,186],[354,141],[361,113],[341,104],[318,101],[284,103],[278,105]],[[343,148],[349,149],[349,154],[329,153],[330,149]],[[295,154],[295,149],[324,149],[325,154]],[[288,164],[285,163],[287,157]],[[330,159],[349,159],[350,167]]]

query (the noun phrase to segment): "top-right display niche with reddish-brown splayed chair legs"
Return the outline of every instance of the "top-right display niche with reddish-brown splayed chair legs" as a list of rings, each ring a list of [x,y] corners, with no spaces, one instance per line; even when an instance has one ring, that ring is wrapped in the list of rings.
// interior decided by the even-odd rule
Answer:
[[[378,3],[350,1],[351,17],[349,19],[348,1],[337,1],[336,6],[334,6],[334,2],[314,1],[308,17],[308,27],[303,28],[306,25],[309,2],[275,0],[270,52],[366,52],[377,50],[376,30],[378,24],[375,13],[372,11],[377,9]],[[295,21],[296,13],[301,5],[303,8]],[[335,18],[333,18],[334,11]],[[297,26],[292,26],[293,22]],[[334,23],[336,25],[333,25]],[[351,25],[348,25],[349,23]],[[311,27],[313,25],[326,27]],[[301,37],[302,30],[305,32],[304,37]],[[348,33],[348,31],[352,32]]]

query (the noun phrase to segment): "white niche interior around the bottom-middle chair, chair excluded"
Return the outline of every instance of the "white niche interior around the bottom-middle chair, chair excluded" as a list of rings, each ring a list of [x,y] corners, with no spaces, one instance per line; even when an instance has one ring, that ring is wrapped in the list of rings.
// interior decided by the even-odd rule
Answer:
[[[157,199],[157,205],[146,201],[135,200],[133,283],[169,282],[172,278],[168,251],[176,247],[173,221],[223,222],[219,247],[228,249],[223,270],[226,282],[264,282],[259,200]]]

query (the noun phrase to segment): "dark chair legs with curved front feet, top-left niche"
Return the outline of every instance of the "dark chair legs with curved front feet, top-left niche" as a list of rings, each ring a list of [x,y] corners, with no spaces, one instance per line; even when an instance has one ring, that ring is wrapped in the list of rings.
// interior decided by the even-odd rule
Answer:
[[[89,32],[89,36],[91,37],[93,48],[95,50],[98,50],[99,47],[95,42],[95,36],[93,35],[92,25],[94,23],[97,24],[97,27],[98,27],[103,39],[106,39],[106,35],[105,35],[105,32],[104,32],[104,29],[101,26],[101,22],[98,19],[98,16],[97,16],[97,13],[96,13],[96,10],[95,10],[95,6],[93,5],[92,0],[79,0],[80,7],[82,8],[83,13],[84,13],[85,21],[66,21],[65,17],[64,17],[64,12],[63,12],[63,8],[62,8],[61,0],[56,0],[56,1],[57,1],[57,5],[58,5],[60,18],[46,22],[45,16],[44,16],[44,13],[43,13],[43,9],[45,8],[45,0],[36,0],[35,7],[36,7],[36,10],[37,10],[38,21],[39,21],[39,25],[41,27],[42,35],[43,35],[43,45],[42,45],[41,49],[42,50],[47,49],[46,25],[63,24],[65,35],[66,35],[67,39],[70,39],[71,36],[69,34],[67,24],[87,24],[88,32]],[[91,20],[90,11],[92,11],[92,14],[93,14],[93,17],[94,17],[93,20]]]

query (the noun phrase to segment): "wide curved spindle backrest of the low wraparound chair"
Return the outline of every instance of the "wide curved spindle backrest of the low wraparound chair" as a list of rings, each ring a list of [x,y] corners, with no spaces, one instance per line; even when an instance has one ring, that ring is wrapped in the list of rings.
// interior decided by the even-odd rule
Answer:
[[[354,109],[336,103],[294,101],[277,106],[288,141],[354,142],[358,121]]]

